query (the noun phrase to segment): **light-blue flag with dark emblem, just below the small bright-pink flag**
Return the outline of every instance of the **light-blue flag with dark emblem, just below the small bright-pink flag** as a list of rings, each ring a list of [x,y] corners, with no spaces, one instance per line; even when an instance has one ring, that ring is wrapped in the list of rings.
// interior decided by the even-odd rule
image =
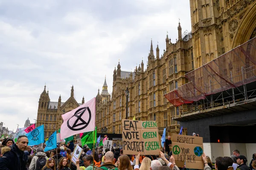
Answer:
[[[27,133],[26,136],[29,140],[29,146],[44,143],[44,125],[35,128],[31,132]]]

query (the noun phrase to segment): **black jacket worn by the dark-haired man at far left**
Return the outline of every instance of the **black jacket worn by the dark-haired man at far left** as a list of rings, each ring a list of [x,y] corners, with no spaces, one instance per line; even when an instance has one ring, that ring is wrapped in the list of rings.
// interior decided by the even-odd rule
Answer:
[[[26,156],[16,144],[0,158],[0,170],[26,170]]]

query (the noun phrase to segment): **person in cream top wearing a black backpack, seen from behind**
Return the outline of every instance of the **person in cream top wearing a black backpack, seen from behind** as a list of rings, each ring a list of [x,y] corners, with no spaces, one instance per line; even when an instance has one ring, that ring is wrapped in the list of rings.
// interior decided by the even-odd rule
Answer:
[[[32,158],[29,165],[29,170],[42,170],[47,159],[48,157],[46,156],[46,153],[44,153],[44,149],[42,147],[38,147],[36,149],[35,156]]]

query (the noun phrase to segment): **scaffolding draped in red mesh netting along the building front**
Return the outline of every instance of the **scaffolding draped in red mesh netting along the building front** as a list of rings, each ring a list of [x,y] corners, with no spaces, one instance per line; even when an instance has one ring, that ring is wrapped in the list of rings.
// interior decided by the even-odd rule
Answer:
[[[189,83],[164,95],[181,114],[256,97],[256,37],[187,73]]]

